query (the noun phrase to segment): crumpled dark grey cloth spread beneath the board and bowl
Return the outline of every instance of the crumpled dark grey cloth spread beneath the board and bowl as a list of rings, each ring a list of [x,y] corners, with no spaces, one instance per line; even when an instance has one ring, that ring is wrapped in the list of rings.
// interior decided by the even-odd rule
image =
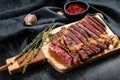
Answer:
[[[69,0],[0,0],[0,66],[9,57],[17,55],[30,41],[55,19],[57,26],[74,22],[58,15]],[[84,0],[90,4],[88,13],[101,12],[105,22],[120,36],[120,0]],[[37,16],[32,26],[24,25],[28,13]],[[81,68],[59,73],[49,63],[28,69],[25,74],[0,73],[0,80],[120,80],[119,52]]]

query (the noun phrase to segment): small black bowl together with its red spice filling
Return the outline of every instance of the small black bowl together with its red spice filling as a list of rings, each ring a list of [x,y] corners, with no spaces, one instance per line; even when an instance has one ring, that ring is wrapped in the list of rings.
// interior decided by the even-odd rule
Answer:
[[[64,5],[64,13],[68,17],[83,17],[89,9],[89,4],[85,1],[70,1]]]

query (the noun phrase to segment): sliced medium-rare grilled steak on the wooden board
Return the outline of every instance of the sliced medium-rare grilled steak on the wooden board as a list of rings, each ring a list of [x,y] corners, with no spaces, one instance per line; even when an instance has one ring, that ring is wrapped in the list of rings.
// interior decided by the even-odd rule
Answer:
[[[68,65],[79,64],[109,46],[110,40],[104,38],[106,33],[102,21],[88,15],[68,28],[61,28],[55,34],[50,49]]]

